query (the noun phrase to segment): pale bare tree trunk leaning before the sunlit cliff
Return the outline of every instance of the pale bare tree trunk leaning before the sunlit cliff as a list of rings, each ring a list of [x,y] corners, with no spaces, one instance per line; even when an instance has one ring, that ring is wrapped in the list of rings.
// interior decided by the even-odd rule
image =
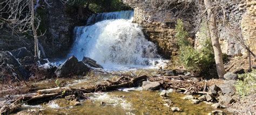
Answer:
[[[216,11],[212,8],[210,0],[204,0],[205,8],[208,14],[208,24],[211,34],[212,46],[214,51],[214,59],[217,67],[217,72],[219,78],[223,78],[225,74],[224,64],[223,64],[223,57],[219,43],[218,31],[215,22],[216,18]]]

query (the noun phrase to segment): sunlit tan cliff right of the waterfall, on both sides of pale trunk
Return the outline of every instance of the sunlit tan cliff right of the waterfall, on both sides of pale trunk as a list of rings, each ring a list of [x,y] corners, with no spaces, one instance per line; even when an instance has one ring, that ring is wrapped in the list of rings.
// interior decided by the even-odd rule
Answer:
[[[159,52],[165,57],[170,58],[178,50],[174,35],[174,27],[178,18],[182,19],[185,29],[190,32],[190,37],[194,39],[196,48],[200,48],[200,40],[204,39],[198,36],[200,33],[194,32],[196,25],[193,21],[194,11],[193,3],[177,2],[147,2],[125,0],[124,3],[134,9],[134,22],[138,23],[145,36],[156,43]],[[250,43],[251,47],[255,43],[255,2],[229,2],[225,4],[226,27],[219,24],[220,44],[223,53],[227,55],[238,55],[246,53],[246,50],[239,44],[236,35],[242,33],[245,42]],[[219,22],[223,18],[220,13]],[[254,46],[255,47],[255,46]],[[251,48],[255,49],[255,48]],[[254,51],[255,52],[255,51]]]

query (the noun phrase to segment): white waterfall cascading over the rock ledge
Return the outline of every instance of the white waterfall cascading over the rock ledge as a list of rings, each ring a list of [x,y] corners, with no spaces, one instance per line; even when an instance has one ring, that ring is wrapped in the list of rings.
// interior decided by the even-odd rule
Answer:
[[[90,57],[106,69],[147,66],[150,65],[150,60],[159,58],[156,45],[145,39],[138,24],[132,23],[132,11],[99,15],[90,17],[88,23],[92,23],[90,19],[110,20],[76,27],[76,40],[69,56],[76,56],[79,60],[84,56]]]

